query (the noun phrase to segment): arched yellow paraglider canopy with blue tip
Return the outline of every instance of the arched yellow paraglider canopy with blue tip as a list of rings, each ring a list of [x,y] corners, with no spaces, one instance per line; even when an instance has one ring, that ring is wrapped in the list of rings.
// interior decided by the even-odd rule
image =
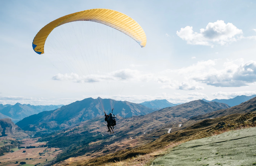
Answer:
[[[92,21],[110,26],[137,41],[145,47],[147,38],[141,26],[129,16],[110,9],[90,9],[58,18],[42,28],[35,36],[32,47],[38,54],[44,53],[44,43],[52,30],[58,26],[75,21]]]

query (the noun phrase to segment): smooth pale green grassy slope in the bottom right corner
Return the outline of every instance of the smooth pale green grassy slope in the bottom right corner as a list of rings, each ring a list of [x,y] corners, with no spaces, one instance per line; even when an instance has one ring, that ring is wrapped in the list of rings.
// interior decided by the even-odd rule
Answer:
[[[253,165],[256,163],[256,127],[191,140],[156,158],[153,166]]]

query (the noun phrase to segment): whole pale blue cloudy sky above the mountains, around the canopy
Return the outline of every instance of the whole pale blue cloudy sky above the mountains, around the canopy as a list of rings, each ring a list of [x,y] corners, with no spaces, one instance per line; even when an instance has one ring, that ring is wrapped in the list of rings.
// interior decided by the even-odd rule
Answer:
[[[74,22],[52,31],[45,54],[34,52],[32,40],[46,24],[93,8],[136,20],[146,47],[105,25]],[[0,104],[66,105],[88,97],[185,103],[254,95],[255,20],[253,0],[1,1]]]

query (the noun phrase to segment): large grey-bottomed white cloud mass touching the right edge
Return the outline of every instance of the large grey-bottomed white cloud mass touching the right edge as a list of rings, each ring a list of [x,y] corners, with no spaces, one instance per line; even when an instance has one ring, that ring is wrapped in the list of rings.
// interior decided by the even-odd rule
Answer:
[[[169,72],[183,75],[189,82],[196,81],[214,87],[242,87],[256,82],[256,61],[244,63],[243,59],[236,59],[225,62],[224,69],[216,69],[217,61],[218,59],[198,61],[188,67]],[[195,88],[197,89],[200,88]]]

